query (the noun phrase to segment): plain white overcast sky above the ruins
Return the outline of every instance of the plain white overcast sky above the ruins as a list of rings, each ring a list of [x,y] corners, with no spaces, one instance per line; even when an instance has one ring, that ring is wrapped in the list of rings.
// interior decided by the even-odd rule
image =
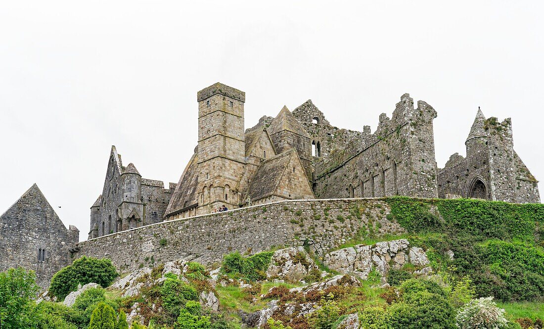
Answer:
[[[177,182],[196,92],[218,81],[246,92],[246,127],[311,99],[333,125],[374,131],[408,92],[438,112],[439,167],[465,155],[481,106],[512,117],[544,179],[544,2],[261,3],[0,2],[0,213],[38,183],[86,239],[111,145]]]

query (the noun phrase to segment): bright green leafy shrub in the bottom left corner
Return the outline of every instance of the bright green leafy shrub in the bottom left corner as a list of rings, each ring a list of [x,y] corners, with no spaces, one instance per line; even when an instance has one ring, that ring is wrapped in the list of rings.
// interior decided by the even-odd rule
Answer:
[[[31,327],[32,311],[38,293],[34,271],[23,268],[0,273],[0,323],[2,329]]]

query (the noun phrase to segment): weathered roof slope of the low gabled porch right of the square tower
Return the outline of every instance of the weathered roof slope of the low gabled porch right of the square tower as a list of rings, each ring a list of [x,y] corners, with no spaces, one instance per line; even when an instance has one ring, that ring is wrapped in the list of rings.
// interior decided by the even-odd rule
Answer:
[[[257,201],[274,194],[281,182],[283,172],[285,172],[293,156],[296,156],[294,148],[263,162],[251,179],[248,188],[248,195],[251,200]]]

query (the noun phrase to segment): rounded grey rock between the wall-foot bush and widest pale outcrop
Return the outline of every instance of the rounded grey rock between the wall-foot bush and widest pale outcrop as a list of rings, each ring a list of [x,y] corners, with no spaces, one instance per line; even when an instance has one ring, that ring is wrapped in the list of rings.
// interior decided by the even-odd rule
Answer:
[[[267,270],[267,278],[299,282],[312,270],[318,270],[318,267],[304,248],[290,247],[274,252],[272,263]]]

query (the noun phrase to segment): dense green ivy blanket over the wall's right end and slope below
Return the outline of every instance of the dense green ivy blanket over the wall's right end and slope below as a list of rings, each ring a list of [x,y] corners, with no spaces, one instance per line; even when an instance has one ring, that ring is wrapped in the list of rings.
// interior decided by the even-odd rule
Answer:
[[[544,204],[386,198],[392,220],[428,250],[431,265],[470,276],[479,296],[544,300]],[[424,234],[418,237],[419,233]],[[454,252],[454,260],[444,256]]]

